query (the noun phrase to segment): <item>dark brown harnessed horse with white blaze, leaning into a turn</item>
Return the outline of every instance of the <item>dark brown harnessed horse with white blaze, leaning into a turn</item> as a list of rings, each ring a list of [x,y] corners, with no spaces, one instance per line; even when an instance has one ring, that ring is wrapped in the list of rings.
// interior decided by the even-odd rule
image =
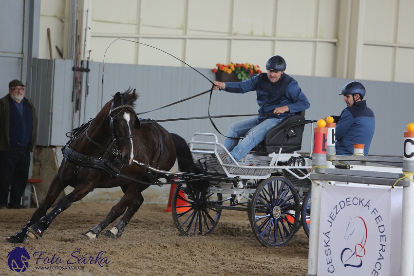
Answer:
[[[154,183],[163,177],[148,173],[144,167],[132,163],[132,160],[168,171],[178,155],[181,171],[200,172],[183,138],[169,133],[157,123],[140,123],[133,110],[137,98],[135,90],[117,92],[94,120],[74,129],[71,140],[62,148],[64,158],[45,200],[21,231],[6,239],[8,242],[21,243],[27,236],[41,238],[56,216],[69,208],[72,202],[81,200],[94,188],[117,186],[122,188],[124,196],[106,218],[85,235],[90,239],[96,238],[110,223],[123,215],[111,230],[102,233],[107,237],[120,237],[143,203],[141,193],[150,186],[147,183]],[[202,182],[201,186],[207,187],[208,183]],[[67,186],[75,189],[46,214]]]

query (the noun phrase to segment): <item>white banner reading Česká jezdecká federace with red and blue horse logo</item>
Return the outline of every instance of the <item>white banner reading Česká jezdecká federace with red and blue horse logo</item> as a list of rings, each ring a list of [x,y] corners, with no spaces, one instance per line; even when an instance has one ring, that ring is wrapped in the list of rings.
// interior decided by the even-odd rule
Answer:
[[[318,276],[390,275],[389,189],[325,185]]]

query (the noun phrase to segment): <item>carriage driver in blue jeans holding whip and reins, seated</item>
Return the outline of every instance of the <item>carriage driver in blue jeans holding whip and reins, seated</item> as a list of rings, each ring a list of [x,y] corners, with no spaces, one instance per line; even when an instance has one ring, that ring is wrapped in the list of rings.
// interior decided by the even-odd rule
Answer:
[[[280,55],[273,55],[266,62],[267,73],[262,73],[242,82],[214,81],[213,89],[231,93],[256,91],[259,115],[230,125],[224,146],[236,161],[244,157],[253,147],[263,141],[267,131],[284,118],[310,107],[309,101],[298,82],[284,74],[286,62]],[[273,113],[273,116],[263,114]],[[239,143],[239,138],[243,137]]]

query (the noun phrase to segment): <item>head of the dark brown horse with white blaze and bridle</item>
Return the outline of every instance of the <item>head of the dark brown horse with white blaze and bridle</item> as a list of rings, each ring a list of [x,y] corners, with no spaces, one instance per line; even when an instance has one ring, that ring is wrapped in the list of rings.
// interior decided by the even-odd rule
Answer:
[[[113,102],[108,117],[110,131],[115,140],[117,153],[122,164],[131,165],[133,155],[132,129],[139,129],[140,122],[133,110],[133,103],[138,98],[135,89],[129,89],[124,93],[117,92],[113,96]]]

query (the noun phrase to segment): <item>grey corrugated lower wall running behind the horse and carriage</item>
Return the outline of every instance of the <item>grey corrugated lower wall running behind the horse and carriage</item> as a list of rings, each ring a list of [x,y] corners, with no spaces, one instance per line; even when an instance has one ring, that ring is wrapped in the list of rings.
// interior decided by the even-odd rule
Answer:
[[[136,112],[154,110],[178,100],[207,91],[210,82],[191,68],[150,65],[90,63],[89,94],[86,96],[86,73],[82,76],[82,98],[79,111],[72,101],[73,61],[35,60],[31,86],[32,100],[39,116],[38,144],[63,146],[68,141],[65,133],[93,118],[115,92],[136,88],[140,97]],[[197,69],[210,80],[215,75],[207,69]],[[102,74],[104,72],[104,74]],[[288,72],[286,72],[288,74]],[[350,80],[310,76],[293,76],[309,98],[311,108],[307,119],[339,115],[345,108],[339,92]],[[103,84],[102,84],[103,79]],[[376,115],[376,132],[370,155],[402,156],[402,135],[408,123],[414,121],[411,104],[414,84],[361,81],[366,89],[368,106]],[[35,90],[36,89],[36,90]],[[177,105],[140,115],[154,120],[187,118],[208,115],[209,93]],[[213,91],[210,115],[256,114],[256,93],[233,94]],[[243,117],[242,117],[243,118]],[[213,119],[217,128],[226,134],[236,118]],[[208,119],[164,122],[161,125],[190,140],[194,132],[217,133]],[[306,127],[302,152],[310,152],[310,126]],[[219,135],[219,141],[224,138]]]

